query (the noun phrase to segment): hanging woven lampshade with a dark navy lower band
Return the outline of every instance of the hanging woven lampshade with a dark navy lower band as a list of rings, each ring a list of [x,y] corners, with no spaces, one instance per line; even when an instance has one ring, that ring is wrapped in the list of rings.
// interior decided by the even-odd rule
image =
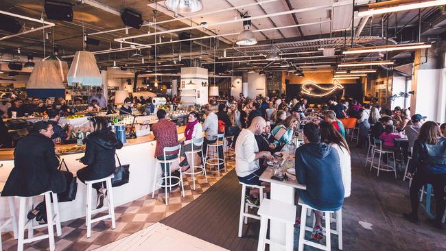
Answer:
[[[58,69],[50,60],[37,61],[27,86],[28,97],[64,97],[65,86],[60,80]]]

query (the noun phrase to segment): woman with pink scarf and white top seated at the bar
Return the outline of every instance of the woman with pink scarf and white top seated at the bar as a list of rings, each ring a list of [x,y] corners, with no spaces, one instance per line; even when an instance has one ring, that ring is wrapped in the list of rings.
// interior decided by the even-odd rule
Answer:
[[[183,145],[181,147],[181,171],[187,171],[189,169],[189,163],[187,163],[187,157],[185,152],[192,150],[192,139],[200,139],[203,137],[203,128],[200,123],[198,112],[193,111],[189,113],[189,117],[186,124],[185,137],[181,140]],[[200,150],[201,145],[193,145],[193,150]],[[192,156],[193,158],[194,156]]]

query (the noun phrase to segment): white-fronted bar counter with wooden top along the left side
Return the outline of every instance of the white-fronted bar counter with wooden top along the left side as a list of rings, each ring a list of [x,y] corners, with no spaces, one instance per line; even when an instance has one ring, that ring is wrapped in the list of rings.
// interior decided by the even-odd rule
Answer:
[[[178,139],[183,138],[183,133],[186,126],[178,128]],[[58,145],[58,148],[71,147],[71,145]],[[156,141],[153,134],[141,136],[137,139],[128,139],[120,150],[117,150],[119,160],[122,165],[130,164],[130,181],[121,187],[113,187],[113,196],[115,199],[115,207],[133,200],[137,200],[145,195],[152,193],[153,180],[155,171],[155,145]],[[60,154],[60,157],[65,160],[69,171],[75,176],[76,171],[84,167],[78,158],[84,156],[83,152]],[[116,163],[118,165],[118,163]],[[3,165],[3,167],[1,167]],[[12,167],[14,167],[14,149],[0,150],[0,188],[3,188],[4,183],[8,179]],[[157,172],[161,178],[161,171]],[[158,189],[158,188],[156,188]],[[34,199],[36,202],[38,200]],[[40,199],[43,200],[43,199]],[[95,201],[95,195],[93,195]],[[9,214],[9,206],[7,198],[0,198],[0,215]],[[19,208],[19,200],[16,199],[16,210]],[[60,202],[60,219],[62,222],[71,219],[85,217],[86,212],[86,185],[78,180],[78,193],[75,200],[72,202]],[[17,212],[18,213],[18,212]],[[11,230],[11,229],[5,229]]]

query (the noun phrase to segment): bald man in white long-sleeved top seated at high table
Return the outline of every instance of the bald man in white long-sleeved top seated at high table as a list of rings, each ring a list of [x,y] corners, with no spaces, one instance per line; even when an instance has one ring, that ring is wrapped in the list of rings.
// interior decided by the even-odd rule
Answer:
[[[260,158],[274,159],[270,152],[259,152],[259,147],[255,141],[255,135],[260,135],[265,128],[265,119],[255,117],[251,125],[240,132],[235,142],[235,171],[240,182],[259,186],[259,178],[265,168],[259,165]],[[259,189],[250,189],[246,194],[246,200],[250,204],[259,204]]]

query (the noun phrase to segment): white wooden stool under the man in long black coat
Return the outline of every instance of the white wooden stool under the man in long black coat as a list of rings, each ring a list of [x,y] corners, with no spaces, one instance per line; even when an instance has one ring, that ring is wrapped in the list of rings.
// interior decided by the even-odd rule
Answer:
[[[59,206],[58,206],[58,197],[56,193],[51,193],[51,191],[47,191],[42,193],[45,198],[45,207],[47,208],[47,224],[36,225],[34,226],[34,219],[27,219],[27,213],[32,210],[32,198],[31,197],[20,197],[16,196],[20,199],[20,209],[19,209],[19,241],[17,243],[17,250],[23,251],[23,246],[25,243],[32,243],[33,241],[40,241],[41,239],[49,240],[49,250],[54,250],[56,245],[54,244],[54,224],[56,224],[56,233],[58,236],[62,235],[62,228],[60,226],[60,215],[59,215]],[[40,196],[38,195],[38,196]],[[51,206],[51,197],[53,198],[53,203]],[[26,201],[28,200],[28,206],[26,206]],[[54,210],[54,213],[53,213]],[[47,235],[39,235],[34,237],[34,229],[37,228],[48,228]],[[25,239],[25,228],[28,229],[28,238]]]

